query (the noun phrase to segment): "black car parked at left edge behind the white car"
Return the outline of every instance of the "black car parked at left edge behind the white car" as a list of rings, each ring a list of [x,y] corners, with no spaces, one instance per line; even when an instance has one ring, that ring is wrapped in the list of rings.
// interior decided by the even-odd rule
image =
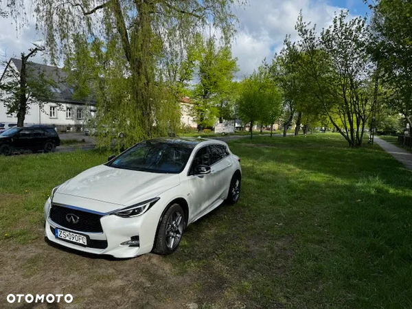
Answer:
[[[47,126],[11,128],[0,135],[0,155],[21,150],[51,152],[56,146],[60,146],[60,138],[54,128]]]

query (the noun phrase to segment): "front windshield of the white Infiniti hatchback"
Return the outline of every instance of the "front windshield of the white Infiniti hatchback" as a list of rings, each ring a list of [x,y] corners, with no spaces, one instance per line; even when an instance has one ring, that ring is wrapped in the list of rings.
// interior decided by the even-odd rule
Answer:
[[[144,141],[108,165],[127,170],[177,174],[185,168],[193,148],[191,144]]]

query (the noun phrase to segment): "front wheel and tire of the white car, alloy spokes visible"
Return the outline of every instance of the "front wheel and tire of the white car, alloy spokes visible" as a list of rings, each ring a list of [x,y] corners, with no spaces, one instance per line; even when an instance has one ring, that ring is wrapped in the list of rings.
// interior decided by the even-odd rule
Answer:
[[[161,218],[152,252],[161,255],[174,253],[181,242],[185,224],[183,208],[179,204],[172,204]]]

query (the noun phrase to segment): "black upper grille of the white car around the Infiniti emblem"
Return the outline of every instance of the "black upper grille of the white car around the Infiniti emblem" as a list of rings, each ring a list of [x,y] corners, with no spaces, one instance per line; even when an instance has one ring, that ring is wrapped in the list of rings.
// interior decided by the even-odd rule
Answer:
[[[78,222],[69,222],[67,220],[67,215],[69,214],[78,216]],[[67,227],[67,229],[73,229],[74,231],[102,233],[103,229],[100,224],[100,218],[102,218],[102,216],[99,214],[92,214],[87,211],[71,209],[59,205],[52,205],[52,208],[50,209],[50,219],[52,219],[53,222],[56,222],[61,227]]]

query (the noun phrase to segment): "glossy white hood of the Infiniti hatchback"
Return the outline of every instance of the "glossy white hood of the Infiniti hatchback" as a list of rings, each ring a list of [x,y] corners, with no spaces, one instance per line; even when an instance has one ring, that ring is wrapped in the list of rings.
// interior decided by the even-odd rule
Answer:
[[[179,184],[179,174],[157,174],[98,165],[60,185],[56,193],[58,200],[65,194],[116,204],[113,209],[117,209],[119,205],[129,206],[154,198]],[[70,198],[63,200],[70,204]]]

